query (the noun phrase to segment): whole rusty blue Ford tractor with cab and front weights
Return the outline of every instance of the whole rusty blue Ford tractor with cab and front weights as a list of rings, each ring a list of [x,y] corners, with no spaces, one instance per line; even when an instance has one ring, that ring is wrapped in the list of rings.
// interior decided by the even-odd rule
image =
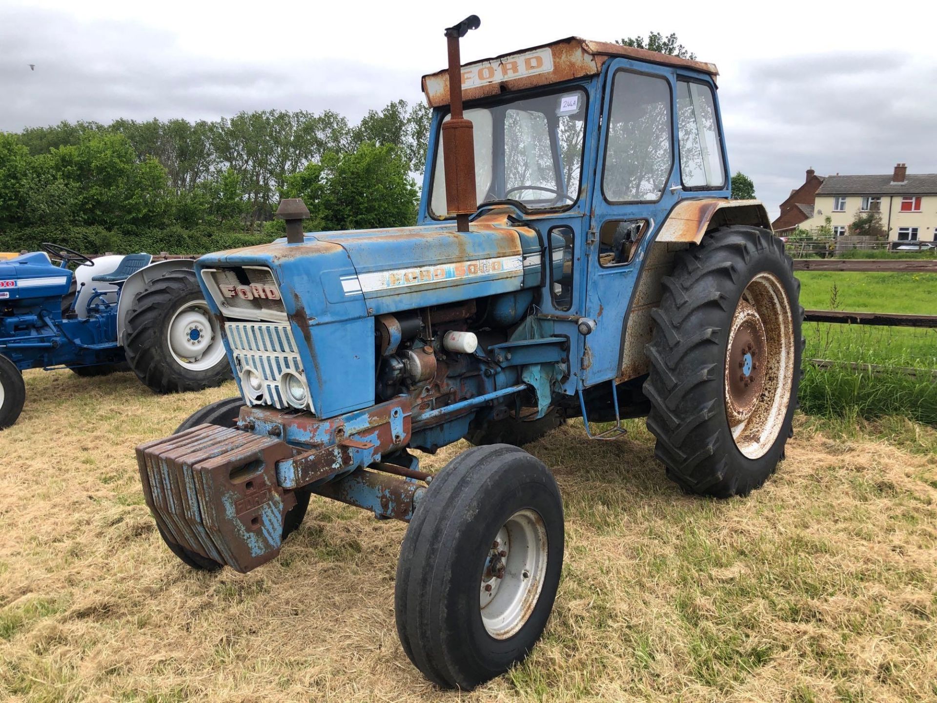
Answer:
[[[417,225],[304,233],[284,202],[285,239],[202,257],[241,395],[137,450],[195,568],[275,558],[313,493],[409,521],[397,631],[465,689],[558,588],[562,502],[520,445],[647,415],[679,486],[744,495],[791,434],[802,312],[764,206],[729,200],[716,67],[578,37],[461,65],[478,25],[423,79]],[[463,438],[435,475],[411,453]]]

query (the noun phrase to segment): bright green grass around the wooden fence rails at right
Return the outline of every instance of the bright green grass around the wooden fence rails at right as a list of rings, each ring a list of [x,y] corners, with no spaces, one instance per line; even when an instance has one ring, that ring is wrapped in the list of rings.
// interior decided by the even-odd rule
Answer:
[[[906,273],[801,272],[807,309],[937,314],[937,276]],[[937,330],[866,325],[804,325],[805,359],[840,364],[804,366],[801,408],[827,418],[904,415],[937,425]],[[850,364],[873,368],[853,368]],[[909,375],[907,369],[922,373]]]

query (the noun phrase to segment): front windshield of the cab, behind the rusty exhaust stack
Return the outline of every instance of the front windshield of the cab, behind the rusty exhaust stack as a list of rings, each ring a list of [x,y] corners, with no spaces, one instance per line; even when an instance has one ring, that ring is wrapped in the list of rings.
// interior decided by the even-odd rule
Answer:
[[[585,115],[586,91],[579,88],[467,109],[475,141],[479,205],[508,201],[541,210],[563,209],[576,202]],[[430,210],[434,217],[446,217],[441,138],[437,144]]]

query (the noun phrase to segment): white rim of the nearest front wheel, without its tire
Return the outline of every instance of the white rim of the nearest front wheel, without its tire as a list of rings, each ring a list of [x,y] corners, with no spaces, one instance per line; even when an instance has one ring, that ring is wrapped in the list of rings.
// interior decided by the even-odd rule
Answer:
[[[484,629],[507,639],[524,626],[533,612],[547,561],[546,527],[534,510],[508,518],[485,555],[480,606]]]

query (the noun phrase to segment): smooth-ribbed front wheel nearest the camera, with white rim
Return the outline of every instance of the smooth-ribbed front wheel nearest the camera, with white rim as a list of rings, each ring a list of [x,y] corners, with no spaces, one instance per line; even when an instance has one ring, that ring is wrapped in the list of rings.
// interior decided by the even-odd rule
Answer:
[[[508,444],[456,456],[426,489],[400,550],[397,634],[445,688],[470,690],[543,634],[563,563],[563,503],[543,463]]]

